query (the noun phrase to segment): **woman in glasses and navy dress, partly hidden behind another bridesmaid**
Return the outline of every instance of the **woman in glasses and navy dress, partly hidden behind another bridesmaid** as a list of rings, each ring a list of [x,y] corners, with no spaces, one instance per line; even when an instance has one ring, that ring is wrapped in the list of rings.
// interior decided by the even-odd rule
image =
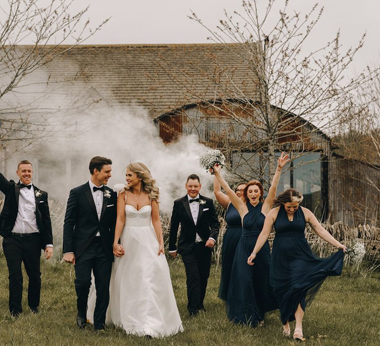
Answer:
[[[245,185],[245,182],[240,182],[235,189],[235,194],[240,199],[243,198]],[[223,301],[227,301],[232,262],[234,260],[236,247],[238,246],[238,242],[241,237],[241,218],[238,210],[231,203],[230,198],[222,192],[220,183],[216,177],[214,177],[214,195],[223,209],[226,209],[225,220],[227,222],[227,229],[223,236],[222,272],[220,276],[218,297]]]

